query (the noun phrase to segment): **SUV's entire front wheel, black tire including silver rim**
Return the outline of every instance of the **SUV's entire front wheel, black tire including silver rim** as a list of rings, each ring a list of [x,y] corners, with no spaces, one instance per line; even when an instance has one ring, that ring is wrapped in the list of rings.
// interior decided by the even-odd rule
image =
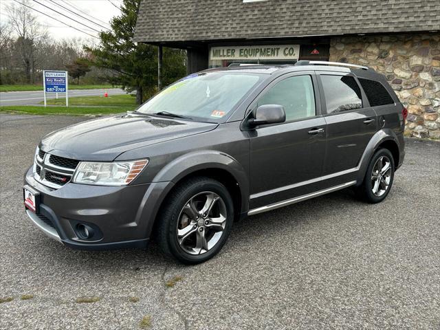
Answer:
[[[194,265],[221,250],[233,222],[228,189],[214,179],[195,177],[176,186],[166,198],[157,218],[156,238],[164,254]]]

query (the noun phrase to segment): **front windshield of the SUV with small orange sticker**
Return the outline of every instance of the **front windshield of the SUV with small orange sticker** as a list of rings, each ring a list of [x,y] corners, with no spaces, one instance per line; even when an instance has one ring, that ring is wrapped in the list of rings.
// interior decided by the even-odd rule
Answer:
[[[138,112],[218,122],[232,114],[262,74],[208,72],[191,74],[142,104]]]

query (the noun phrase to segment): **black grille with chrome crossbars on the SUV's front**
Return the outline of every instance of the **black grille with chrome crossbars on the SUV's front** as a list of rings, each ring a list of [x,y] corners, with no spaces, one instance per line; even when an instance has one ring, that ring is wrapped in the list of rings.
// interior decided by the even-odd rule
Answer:
[[[34,178],[45,186],[61,188],[72,179],[79,160],[59,157],[40,149],[34,160]]]

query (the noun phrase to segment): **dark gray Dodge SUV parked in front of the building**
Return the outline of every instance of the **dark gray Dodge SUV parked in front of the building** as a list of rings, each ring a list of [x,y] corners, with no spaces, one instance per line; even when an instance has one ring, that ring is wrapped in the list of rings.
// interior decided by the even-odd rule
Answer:
[[[385,199],[407,111],[368,67],[299,61],[190,74],[136,111],[45,136],[28,216],[72,248],[217,254],[234,221],[352,187]]]

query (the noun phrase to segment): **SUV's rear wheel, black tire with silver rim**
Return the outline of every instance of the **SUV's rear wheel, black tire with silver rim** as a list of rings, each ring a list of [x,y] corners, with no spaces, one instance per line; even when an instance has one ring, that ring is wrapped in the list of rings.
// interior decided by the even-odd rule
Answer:
[[[389,164],[389,165],[388,165]],[[389,166],[388,169],[386,166]],[[362,185],[356,189],[356,195],[369,203],[383,201],[393,186],[394,158],[386,148],[380,148],[371,158]]]

